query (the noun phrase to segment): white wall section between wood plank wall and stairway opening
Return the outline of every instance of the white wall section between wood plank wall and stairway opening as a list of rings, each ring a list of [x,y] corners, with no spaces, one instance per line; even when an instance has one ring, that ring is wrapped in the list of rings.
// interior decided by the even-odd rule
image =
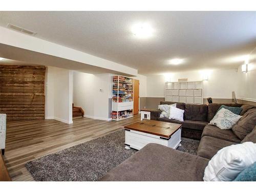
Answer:
[[[73,71],[47,67],[46,119],[72,121]]]

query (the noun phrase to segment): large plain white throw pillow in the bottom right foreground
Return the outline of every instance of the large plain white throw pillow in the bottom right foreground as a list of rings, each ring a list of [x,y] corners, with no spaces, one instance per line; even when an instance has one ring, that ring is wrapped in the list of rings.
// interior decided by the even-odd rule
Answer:
[[[256,162],[256,143],[245,142],[222,148],[204,170],[204,181],[232,181]]]

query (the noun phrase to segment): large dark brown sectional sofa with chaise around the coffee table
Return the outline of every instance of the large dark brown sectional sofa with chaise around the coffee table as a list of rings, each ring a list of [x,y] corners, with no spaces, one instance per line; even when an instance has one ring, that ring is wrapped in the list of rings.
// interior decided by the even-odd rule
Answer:
[[[161,101],[161,104],[173,103]],[[184,122],[159,118],[161,111],[153,111],[151,119],[182,123],[183,137],[201,139],[197,156],[150,143],[111,170],[100,181],[203,181],[208,161],[221,148],[246,141],[256,143],[256,106],[224,104],[241,106],[240,115],[243,117],[231,130],[221,130],[208,125],[221,105],[177,103],[177,108],[185,110]]]

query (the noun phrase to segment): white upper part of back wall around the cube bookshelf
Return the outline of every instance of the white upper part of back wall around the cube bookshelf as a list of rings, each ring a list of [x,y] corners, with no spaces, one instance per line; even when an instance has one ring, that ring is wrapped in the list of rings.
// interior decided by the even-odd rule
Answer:
[[[204,98],[232,98],[232,91],[237,91],[237,70],[190,71],[166,75],[147,76],[147,97],[164,97],[164,82],[178,81],[179,78],[188,78],[188,81],[204,81]]]

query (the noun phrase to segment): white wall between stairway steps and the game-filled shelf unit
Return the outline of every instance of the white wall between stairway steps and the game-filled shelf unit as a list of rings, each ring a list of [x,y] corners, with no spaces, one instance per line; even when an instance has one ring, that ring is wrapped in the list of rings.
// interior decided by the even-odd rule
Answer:
[[[81,106],[85,117],[101,120],[109,118],[111,74],[88,74],[74,71],[74,105]],[[101,90],[101,91],[100,91]]]

